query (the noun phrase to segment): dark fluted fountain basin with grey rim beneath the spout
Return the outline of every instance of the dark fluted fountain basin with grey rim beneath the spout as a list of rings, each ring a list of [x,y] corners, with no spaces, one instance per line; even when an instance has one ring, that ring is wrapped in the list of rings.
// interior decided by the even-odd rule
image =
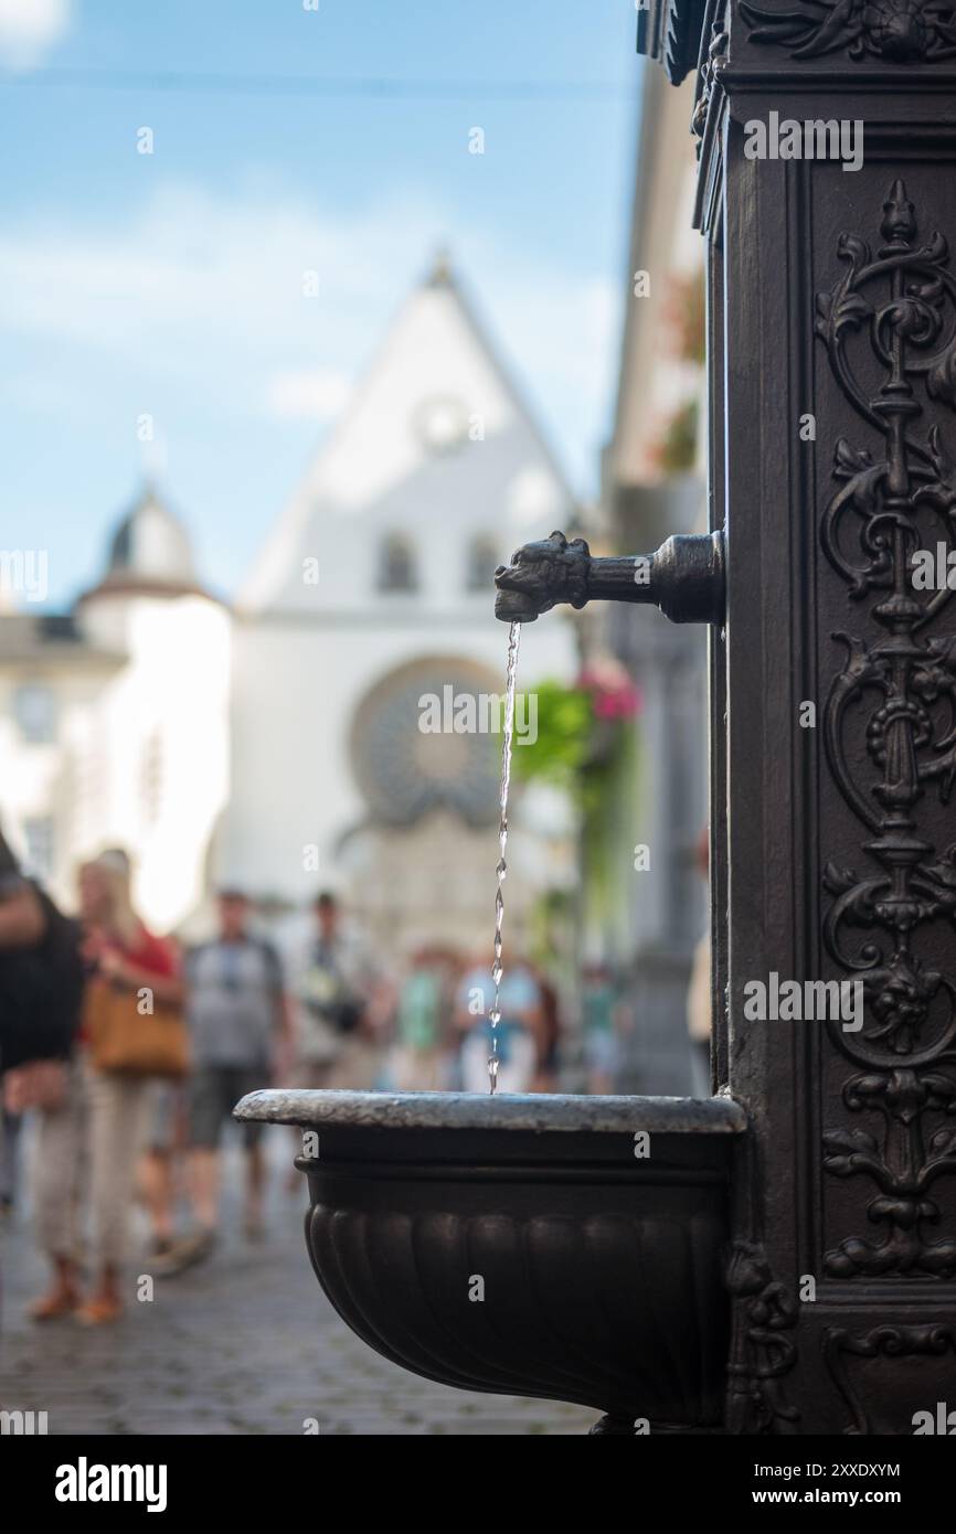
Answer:
[[[740,1104],[262,1091],[235,1117],[305,1132],[316,1276],[394,1364],[652,1428],[720,1424]]]

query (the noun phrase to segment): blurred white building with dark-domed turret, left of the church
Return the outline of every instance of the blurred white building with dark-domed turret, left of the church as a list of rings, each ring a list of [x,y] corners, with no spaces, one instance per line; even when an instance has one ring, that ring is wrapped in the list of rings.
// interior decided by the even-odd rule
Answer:
[[[230,630],[150,486],[72,612],[0,614],[0,811],[63,900],[107,845],[134,856],[157,928],[203,897],[229,788]]]

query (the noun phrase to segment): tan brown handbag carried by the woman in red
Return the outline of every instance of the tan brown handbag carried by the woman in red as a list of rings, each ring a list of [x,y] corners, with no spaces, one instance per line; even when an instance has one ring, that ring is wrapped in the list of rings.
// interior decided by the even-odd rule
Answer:
[[[92,976],[83,999],[83,1034],[95,1071],[178,1078],[189,1071],[189,1034],[178,1006],[153,997],[141,1012],[135,991]]]

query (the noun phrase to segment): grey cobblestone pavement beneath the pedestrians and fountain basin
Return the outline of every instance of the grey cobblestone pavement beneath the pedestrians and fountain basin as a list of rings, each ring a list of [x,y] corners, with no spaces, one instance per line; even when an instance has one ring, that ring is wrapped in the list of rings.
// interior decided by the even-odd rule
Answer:
[[[115,1327],[37,1325],[45,1284],[29,1212],[0,1227],[0,1407],[48,1413],[49,1433],[586,1433],[598,1413],[430,1384],[373,1353],[336,1316],[308,1266],[304,1189],[284,1192],[288,1140],[270,1141],[267,1238],[238,1235],[238,1152],[227,1158],[223,1244]],[[141,1259],[141,1269],[147,1264]]]

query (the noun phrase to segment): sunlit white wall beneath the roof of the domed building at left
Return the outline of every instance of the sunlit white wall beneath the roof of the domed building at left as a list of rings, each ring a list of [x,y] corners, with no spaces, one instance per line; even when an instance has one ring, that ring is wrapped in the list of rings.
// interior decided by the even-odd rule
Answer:
[[[0,808],[17,827],[55,821],[51,881],[68,908],[75,867],[106,845],[124,847],[149,927],[176,927],[199,900],[206,859],[229,793],[230,617],[204,597],[100,595],[83,607],[100,643],[126,653],[115,669],[63,660],[46,680],[58,700],[57,739],[25,744],[11,716],[20,681],[0,675]],[[146,795],[146,762],[157,769]]]

